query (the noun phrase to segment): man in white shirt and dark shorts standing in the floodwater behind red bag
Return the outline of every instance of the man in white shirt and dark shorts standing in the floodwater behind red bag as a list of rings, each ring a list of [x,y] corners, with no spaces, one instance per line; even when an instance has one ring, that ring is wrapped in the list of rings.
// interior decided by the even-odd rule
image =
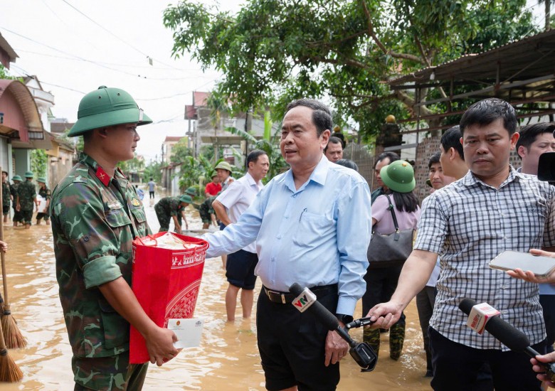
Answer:
[[[223,225],[237,223],[240,215],[253,203],[258,192],[264,187],[262,179],[268,173],[270,160],[265,151],[255,149],[247,156],[247,166],[245,176],[233,181],[212,203],[212,208]],[[235,320],[239,289],[243,318],[250,318],[253,310],[256,264],[258,255],[255,242],[228,255],[226,277],[229,286],[226,291],[226,313],[230,322]]]

